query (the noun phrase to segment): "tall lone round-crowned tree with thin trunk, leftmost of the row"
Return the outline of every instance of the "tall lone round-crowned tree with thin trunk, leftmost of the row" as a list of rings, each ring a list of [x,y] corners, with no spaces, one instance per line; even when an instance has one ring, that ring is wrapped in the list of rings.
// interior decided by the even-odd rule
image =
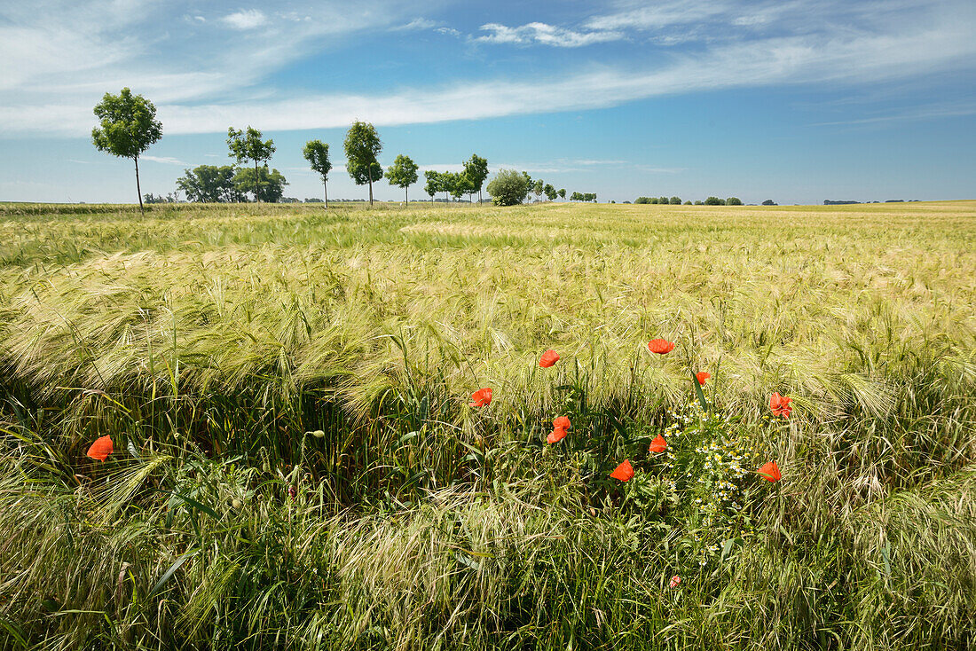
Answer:
[[[132,158],[136,163],[136,194],[142,213],[145,209],[139,183],[139,155],[163,137],[163,125],[156,119],[156,107],[142,95],[133,95],[128,88],[123,88],[118,95],[105,93],[102,102],[95,104],[92,110],[99,118],[99,126],[92,129],[95,147],[119,158]]]

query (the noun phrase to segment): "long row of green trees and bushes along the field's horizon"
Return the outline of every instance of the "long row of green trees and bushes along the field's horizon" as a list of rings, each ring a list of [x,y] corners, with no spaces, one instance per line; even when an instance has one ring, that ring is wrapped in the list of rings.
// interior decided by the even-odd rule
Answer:
[[[95,146],[112,155],[132,158],[136,165],[136,191],[139,194],[139,208],[143,211],[142,187],[139,179],[139,157],[151,144],[158,142],[163,136],[163,126],[156,119],[156,107],[141,95],[133,95],[128,88],[123,88],[119,95],[105,93],[94,112],[100,124],[92,130],[92,141]],[[274,154],[274,141],[263,140],[262,132],[251,126],[245,130],[227,129],[227,147],[230,156],[238,164],[254,163],[254,170],[250,167],[237,168],[234,166],[216,167],[200,165],[191,170],[184,170],[184,176],[177,180],[177,186],[186,193],[190,201],[222,202],[246,200],[246,192],[253,188],[255,200],[278,201],[281,199],[283,188],[288,182],[277,170],[268,170],[268,162]],[[383,151],[383,142],[376,128],[368,122],[355,121],[346,133],[343,143],[346,153],[346,171],[357,185],[369,185],[369,202],[373,205],[373,183],[383,179],[384,169],[378,157]],[[308,141],[303,149],[305,160],[311,169],[322,178],[322,188],[325,195],[325,206],[329,206],[329,173],[332,162],[329,159],[329,145],[318,140]],[[391,185],[397,185],[404,190],[404,198],[409,202],[409,188],[417,183],[418,165],[409,156],[400,154],[393,164],[386,169],[386,179]],[[427,183],[425,191],[431,202],[438,192],[444,192],[456,199],[468,194],[468,198],[477,192],[478,202],[481,202],[481,188],[488,178],[488,161],[477,154],[464,163],[463,172],[436,172],[428,170],[424,173]],[[494,189],[493,189],[494,188]],[[493,202],[498,205],[512,205],[527,200],[531,193],[537,199],[543,194],[554,201],[555,198],[566,198],[566,190],[555,189],[550,183],[541,179],[533,181],[525,172],[502,170],[496,175],[492,183],[488,184],[488,192]],[[573,192],[573,201],[595,201],[592,193],[581,194]]]

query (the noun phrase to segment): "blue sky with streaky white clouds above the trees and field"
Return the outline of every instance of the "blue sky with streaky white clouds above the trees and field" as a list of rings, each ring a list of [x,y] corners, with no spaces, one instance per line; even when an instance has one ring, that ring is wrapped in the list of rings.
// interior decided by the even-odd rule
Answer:
[[[600,200],[976,196],[972,0],[0,0],[0,200],[135,201],[132,161],[90,139],[123,86],[163,123],[157,194],[253,125],[286,195],[320,195],[320,139],[330,196],[365,197],[341,167],[358,118],[384,165],[478,153]]]

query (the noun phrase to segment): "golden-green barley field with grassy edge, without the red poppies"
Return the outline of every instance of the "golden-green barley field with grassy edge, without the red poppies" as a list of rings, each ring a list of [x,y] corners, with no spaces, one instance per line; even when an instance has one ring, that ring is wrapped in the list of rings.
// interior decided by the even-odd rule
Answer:
[[[3,649],[976,646],[976,201],[0,204],[0,363]]]

